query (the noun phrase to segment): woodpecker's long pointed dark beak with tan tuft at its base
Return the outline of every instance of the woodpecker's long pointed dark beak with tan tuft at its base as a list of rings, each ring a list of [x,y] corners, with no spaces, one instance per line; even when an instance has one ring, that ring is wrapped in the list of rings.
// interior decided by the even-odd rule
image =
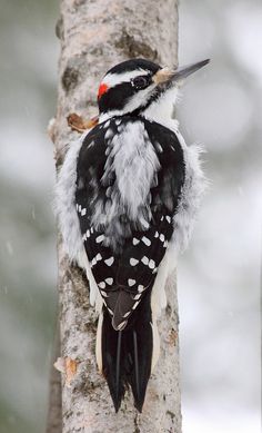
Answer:
[[[195,72],[200,68],[203,68],[203,66],[208,65],[210,62],[210,59],[199,61],[198,63],[191,63],[181,68],[178,68],[175,70],[171,70],[169,68],[162,68],[160,69],[154,76],[153,76],[153,82],[155,85],[163,85],[163,83],[174,83],[178,81],[183,80],[191,73]]]

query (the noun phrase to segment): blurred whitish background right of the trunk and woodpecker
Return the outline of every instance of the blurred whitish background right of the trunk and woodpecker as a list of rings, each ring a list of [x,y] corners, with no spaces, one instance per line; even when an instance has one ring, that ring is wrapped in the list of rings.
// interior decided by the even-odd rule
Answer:
[[[211,58],[179,107],[211,184],[179,272],[183,433],[261,431],[261,22],[259,1],[180,4],[180,65]]]

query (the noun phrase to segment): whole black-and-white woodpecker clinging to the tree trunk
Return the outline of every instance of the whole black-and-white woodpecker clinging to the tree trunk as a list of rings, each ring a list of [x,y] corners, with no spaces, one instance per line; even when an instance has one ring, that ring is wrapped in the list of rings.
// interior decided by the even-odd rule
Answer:
[[[208,62],[114,66],[99,86],[98,125],[70,144],[58,175],[59,225],[99,312],[97,363],[115,412],[129,385],[142,411],[165,281],[204,190],[200,148],[185,145],[173,110],[181,82]]]

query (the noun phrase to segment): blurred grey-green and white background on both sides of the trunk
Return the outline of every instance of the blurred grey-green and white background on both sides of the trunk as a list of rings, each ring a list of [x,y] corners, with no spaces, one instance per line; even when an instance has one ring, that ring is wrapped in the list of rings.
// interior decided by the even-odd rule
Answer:
[[[1,1],[0,433],[43,433],[53,342],[57,0]],[[183,0],[178,107],[210,179],[179,268],[183,433],[260,432],[262,3]]]

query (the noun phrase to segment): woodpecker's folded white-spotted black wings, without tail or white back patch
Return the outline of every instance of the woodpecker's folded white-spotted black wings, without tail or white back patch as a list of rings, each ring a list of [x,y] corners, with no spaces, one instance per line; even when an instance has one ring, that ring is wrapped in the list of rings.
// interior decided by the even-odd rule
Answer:
[[[124,122],[131,117],[121,118]],[[137,118],[135,118],[137,121]],[[85,137],[78,159],[77,209],[83,235],[85,252],[91,263],[94,279],[100,288],[104,304],[113,315],[113,326],[122,329],[128,324],[133,309],[143,297],[143,292],[153,286],[158,267],[164,256],[173,233],[172,217],[175,213],[184,180],[184,163],[177,136],[165,127],[141,118],[144,129],[154,146],[161,169],[150,190],[152,219],[143,232],[119,216],[119,224],[128,223],[128,235],[121,239],[119,248],[107,245],[103,227],[92,227],[92,214],[97,203],[104,207],[110,198],[107,189],[115,178],[102,181],[107,163],[107,131],[119,134],[115,119],[94,127]],[[131,229],[130,229],[131,227]],[[123,229],[124,232],[124,229]]]

